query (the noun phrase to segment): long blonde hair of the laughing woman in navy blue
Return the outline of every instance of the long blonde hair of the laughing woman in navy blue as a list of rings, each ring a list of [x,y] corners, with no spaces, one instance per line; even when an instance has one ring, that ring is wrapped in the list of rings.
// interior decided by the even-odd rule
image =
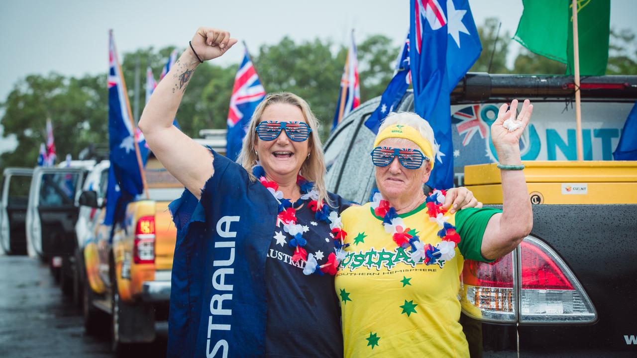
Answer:
[[[257,154],[254,152],[254,143],[257,140],[256,128],[259,122],[261,122],[261,116],[266,107],[275,103],[292,104],[292,106],[296,106],[301,110],[305,121],[310,125],[312,131],[310,133],[308,149],[311,155],[303,162],[303,165],[301,165],[300,174],[308,181],[314,182],[314,187],[318,190],[318,202],[330,204],[325,187],[326,167],[323,156],[323,146],[318,137],[318,120],[310,110],[308,103],[303,98],[296,96],[296,94],[290,92],[270,93],[259,103],[259,106],[254,110],[254,114],[250,119],[250,124],[248,124],[237,162],[248,171],[250,180],[253,182],[257,180],[257,178],[252,175],[252,168],[257,164]]]

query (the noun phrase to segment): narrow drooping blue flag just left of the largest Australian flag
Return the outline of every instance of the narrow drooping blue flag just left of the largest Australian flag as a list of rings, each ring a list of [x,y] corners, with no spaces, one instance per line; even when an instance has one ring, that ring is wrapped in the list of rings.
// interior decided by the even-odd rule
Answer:
[[[385,117],[398,108],[398,104],[403,99],[405,92],[412,83],[412,75],[409,68],[409,33],[407,33],[407,39],[404,41],[403,48],[396,60],[396,69],[394,71],[394,78],[387,85],[387,89],[380,97],[380,104],[378,108],[371,113],[369,118],[365,121],[366,127],[368,127],[375,134],[378,133],[380,125],[383,124]]]

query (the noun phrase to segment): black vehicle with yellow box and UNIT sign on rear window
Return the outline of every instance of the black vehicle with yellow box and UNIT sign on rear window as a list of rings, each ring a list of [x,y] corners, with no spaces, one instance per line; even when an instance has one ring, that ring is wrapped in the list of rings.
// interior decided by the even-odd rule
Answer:
[[[522,160],[529,164],[527,181],[536,177],[531,167],[538,161],[536,166],[545,167],[542,180],[573,190],[576,185],[562,182],[569,171],[561,167],[586,163],[565,162],[576,159],[574,88],[568,76],[468,73],[451,95],[454,153],[446,155],[454,156],[455,185],[467,185],[485,203],[498,203],[501,189],[487,180],[489,171],[476,172],[473,166],[497,162],[489,138],[497,106],[529,98],[533,118],[520,140]],[[465,261],[459,299],[472,357],[637,355],[637,175],[626,176],[637,165],[599,162],[612,160],[637,100],[637,76],[592,76],[580,88],[584,159],[597,161],[589,162],[587,177],[619,167],[622,183],[590,183],[589,196],[601,197],[603,205],[575,204],[568,195],[562,196],[568,204],[557,204],[559,189],[557,194],[529,192],[534,226],[522,244],[496,264]],[[376,187],[373,164],[361,158],[369,157],[375,138],[364,121],[379,104],[380,97],[361,104],[325,145],[327,189],[359,203]],[[411,91],[397,111],[413,111]],[[633,189],[612,193],[627,187]]]

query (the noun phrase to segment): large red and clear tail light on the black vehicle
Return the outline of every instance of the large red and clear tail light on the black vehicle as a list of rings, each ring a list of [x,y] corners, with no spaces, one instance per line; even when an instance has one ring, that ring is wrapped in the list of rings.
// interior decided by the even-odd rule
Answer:
[[[533,236],[492,264],[465,261],[461,303],[471,317],[498,323],[585,324],[597,315],[566,263]]]

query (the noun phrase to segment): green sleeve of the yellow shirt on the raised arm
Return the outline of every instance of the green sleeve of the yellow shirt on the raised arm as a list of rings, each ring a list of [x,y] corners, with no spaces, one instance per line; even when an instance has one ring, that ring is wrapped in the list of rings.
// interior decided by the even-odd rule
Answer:
[[[482,257],[482,236],[490,218],[502,210],[494,208],[467,208],[455,214],[455,230],[460,234],[458,248],[465,259],[493,262]]]

